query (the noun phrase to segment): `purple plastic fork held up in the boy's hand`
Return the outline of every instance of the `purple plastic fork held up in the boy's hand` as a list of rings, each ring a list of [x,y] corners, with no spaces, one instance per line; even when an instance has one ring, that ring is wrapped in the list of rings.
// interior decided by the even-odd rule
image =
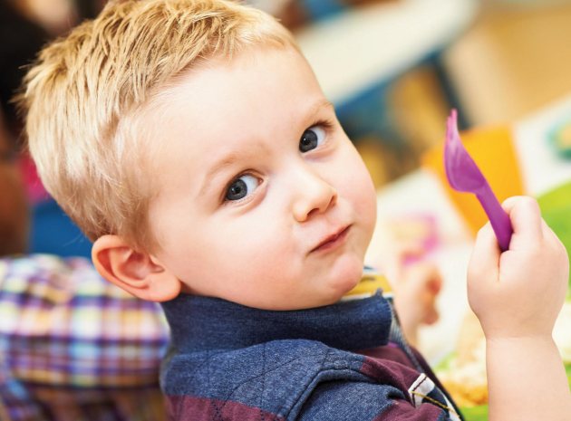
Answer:
[[[450,187],[460,192],[473,193],[478,197],[498,238],[500,250],[502,252],[508,250],[513,233],[511,221],[506,211],[499,205],[498,198],[489,187],[486,177],[462,145],[456,122],[456,110],[451,110],[448,118],[446,144],[444,145],[444,168]]]

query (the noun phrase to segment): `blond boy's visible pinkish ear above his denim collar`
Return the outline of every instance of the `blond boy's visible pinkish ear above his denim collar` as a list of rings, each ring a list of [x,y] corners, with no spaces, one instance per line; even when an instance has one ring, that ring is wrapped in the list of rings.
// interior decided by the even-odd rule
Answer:
[[[182,283],[145,252],[138,252],[117,235],[103,235],[92,247],[95,269],[107,281],[147,301],[169,301]]]

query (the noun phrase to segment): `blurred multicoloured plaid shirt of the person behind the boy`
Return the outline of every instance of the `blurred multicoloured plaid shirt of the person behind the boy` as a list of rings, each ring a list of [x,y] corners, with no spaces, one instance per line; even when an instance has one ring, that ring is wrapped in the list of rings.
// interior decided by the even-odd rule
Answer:
[[[0,259],[0,420],[160,421],[160,307],[83,258]]]

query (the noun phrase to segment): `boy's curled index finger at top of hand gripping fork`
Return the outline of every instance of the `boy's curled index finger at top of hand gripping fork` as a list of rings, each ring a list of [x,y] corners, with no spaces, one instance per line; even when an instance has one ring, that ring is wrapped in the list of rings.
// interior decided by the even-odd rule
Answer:
[[[514,234],[525,241],[538,241],[543,237],[541,210],[536,199],[528,196],[509,197],[502,206],[509,214]]]

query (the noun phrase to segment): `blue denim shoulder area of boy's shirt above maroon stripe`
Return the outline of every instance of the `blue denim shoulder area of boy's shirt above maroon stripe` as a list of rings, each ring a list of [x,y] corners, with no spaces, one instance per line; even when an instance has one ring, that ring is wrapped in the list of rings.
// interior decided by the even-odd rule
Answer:
[[[264,384],[279,395],[330,368],[359,373],[363,359],[316,340],[272,340],[247,348],[170,355],[161,370],[162,386],[168,395],[212,393],[236,398],[242,388],[250,394]]]

